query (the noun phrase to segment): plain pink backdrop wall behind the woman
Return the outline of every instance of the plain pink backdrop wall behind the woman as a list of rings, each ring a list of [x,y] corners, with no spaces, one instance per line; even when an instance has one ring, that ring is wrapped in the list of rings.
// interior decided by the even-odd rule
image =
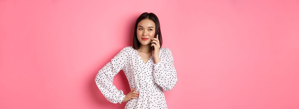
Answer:
[[[169,109],[299,108],[298,0],[1,0],[0,108],[124,108],[94,78],[143,12],[173,53]],[[114,85],[130,90],[123,71]]]

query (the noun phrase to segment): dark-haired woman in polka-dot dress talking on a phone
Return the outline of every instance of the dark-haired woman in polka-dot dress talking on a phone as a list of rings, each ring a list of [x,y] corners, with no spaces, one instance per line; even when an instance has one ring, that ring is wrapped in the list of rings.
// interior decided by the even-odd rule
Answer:
[[[158,17],[142,13],[135,24],[133,46],[120,50],[96,75],[96,85],[104,97],[114,104],[127,102],[125,109],[167,109],[162,89],[171,90],[178,79],[171,50],[161,45]],[[112,84],[120,70],[131,88],[126,95]]]

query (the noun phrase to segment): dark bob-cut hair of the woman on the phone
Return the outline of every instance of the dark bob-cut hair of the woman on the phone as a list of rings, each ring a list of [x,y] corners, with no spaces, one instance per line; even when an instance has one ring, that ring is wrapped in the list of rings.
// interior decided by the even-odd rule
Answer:
[[[161,49],[161,47],[162,47],[162,35],[161,35],[161,30],[160,30],[159,19],[158,19],[158,17],[154,13],[147,13],[147,12],[142,13],[138,17],[138,19],[137,19],[137,21],[135,23],[134,35],[133,35],[133,48],[136,49],[136,50],[138,50],[139,47],[140,47],[140,42],[137,39],[137,25],[143,19],[150,19],[153,22],[155,22],[155,25],[156,25],[155,33],[157,33],[157,31],[159,30],[159,33],[158,33],[158,39],[159,39],[159,42],[160,42],[160,48],[159,49]],[[156,36],[154,36],[154,37],[156,37]]]

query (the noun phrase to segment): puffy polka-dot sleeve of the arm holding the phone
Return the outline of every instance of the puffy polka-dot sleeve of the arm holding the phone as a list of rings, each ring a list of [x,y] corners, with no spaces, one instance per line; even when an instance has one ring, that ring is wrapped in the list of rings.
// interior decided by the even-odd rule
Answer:
[[[171,90],[175,87],[177,82],[177,74],[174,66],[174,60],[171,50],[166,48],[163,61],[154,64],[154,80],[165,91]]]

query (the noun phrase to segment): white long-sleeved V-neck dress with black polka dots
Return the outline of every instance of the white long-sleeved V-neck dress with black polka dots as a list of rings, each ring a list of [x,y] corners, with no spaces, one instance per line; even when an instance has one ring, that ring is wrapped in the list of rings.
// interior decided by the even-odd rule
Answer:
[[[130,89],[137,88],[137,98],[126,102],[125,109],[167,109],[164,91],[174,88],[177,82],[176,69],[171,50],[161,47],[160,62],[155,64],[151,55],[146,64],[133,46],[124,47],[96,74],[95,82],[104,97],[116,104],[122,103],[125,95],[112,83],[114,76],[123,70]]]

